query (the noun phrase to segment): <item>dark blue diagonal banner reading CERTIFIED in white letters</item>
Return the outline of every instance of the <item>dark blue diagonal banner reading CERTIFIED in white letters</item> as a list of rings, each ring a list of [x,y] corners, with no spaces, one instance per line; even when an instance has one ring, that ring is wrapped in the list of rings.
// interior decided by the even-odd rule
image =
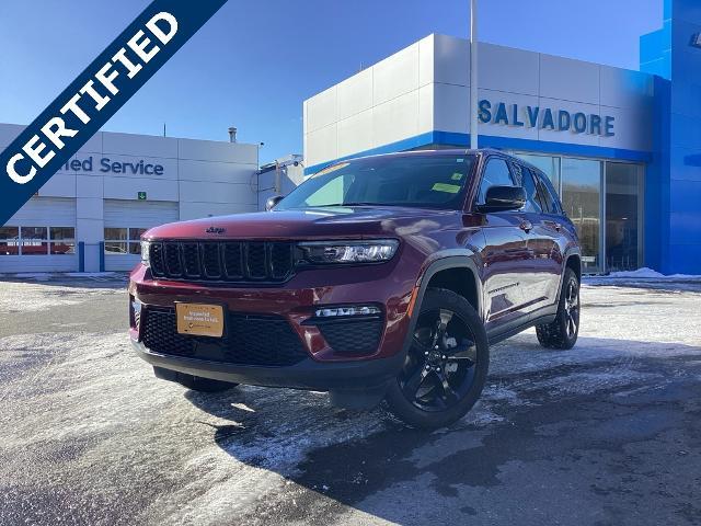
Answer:
[[[227,0],[154,0],[0,155],[0,226]]]

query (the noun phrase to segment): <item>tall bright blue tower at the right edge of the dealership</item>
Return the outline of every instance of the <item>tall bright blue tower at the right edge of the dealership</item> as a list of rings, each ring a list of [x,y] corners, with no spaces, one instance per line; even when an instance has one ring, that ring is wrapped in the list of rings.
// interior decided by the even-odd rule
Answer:
[[[699,0],[665,0],[662,28],[641,37],[641,71],[659,76],[645,179],[645,263],[664,274],[701,274],[700,70]]]

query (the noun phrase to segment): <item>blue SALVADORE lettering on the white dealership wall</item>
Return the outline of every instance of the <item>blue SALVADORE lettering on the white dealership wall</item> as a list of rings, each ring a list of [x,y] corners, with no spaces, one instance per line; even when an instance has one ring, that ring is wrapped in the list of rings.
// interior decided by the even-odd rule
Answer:
[[[614,117],[586,112],[568,112],[543,106],[480,101],[479,118],[482,124],[570,132],[573,134],[616,136]]]

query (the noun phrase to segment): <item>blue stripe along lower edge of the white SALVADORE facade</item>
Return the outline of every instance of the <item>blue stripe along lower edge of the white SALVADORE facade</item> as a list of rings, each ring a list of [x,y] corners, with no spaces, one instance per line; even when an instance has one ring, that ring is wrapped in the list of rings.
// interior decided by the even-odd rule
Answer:
[[[380,153],[392,153],[406,151],[428,145],[468,147],[470,145],[470,134],[459,134],[453,132],[427,132],[407,139],[390,142],[389,145],[359,151],[352,156],[341,157],[304,168],[304,175],[318,172],[322,168],[334,162],[344,161],[364,156],[377,156]],[[516,139],[510,137],[496,137],[490,135],[480,136],[481,148],[497,148],[505,150],[522,150],[535,153],[550,153],[576,157],[597,157],[605,159],[616,159],[634,162],[651,162],[653,155],[648,151],[625,150],[621,148],[607,148],[602,146],[572,145],[567,142],[553,142],[548,140]]]

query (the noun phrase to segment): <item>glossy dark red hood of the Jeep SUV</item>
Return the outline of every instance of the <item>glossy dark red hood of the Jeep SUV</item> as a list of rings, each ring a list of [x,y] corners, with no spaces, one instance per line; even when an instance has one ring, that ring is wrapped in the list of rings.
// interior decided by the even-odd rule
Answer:
[[[460,213],[404,207],[320,207],[171,222],[145,239],[327,239],[402,237],[453,222]]]

